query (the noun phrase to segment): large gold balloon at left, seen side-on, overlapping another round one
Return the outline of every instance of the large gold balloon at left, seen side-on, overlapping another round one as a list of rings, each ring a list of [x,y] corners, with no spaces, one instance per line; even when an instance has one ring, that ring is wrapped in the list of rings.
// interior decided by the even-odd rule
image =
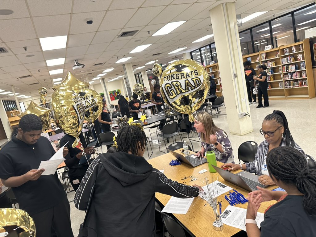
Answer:
[[[52,94],[52,112],[56,125],[73,137],[76,137],[72,147],[79,143],[85,108],[78,94],[68,88],[60,87]]]

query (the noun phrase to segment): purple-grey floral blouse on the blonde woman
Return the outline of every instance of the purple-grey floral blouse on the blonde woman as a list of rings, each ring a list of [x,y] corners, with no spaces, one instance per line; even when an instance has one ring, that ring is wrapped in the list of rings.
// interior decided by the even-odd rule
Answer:
[[[201,141],[201,146],[204,147],[205,152],[207,149],[211,148],[215,153],[217,161],[222,163],[234,163],[233,148],[227,134],[223,130],[219,130],[215,132],[215,135],[217,137],[217,143],[222,144],[223,152],[220,152],[214,144],[208,144]],[[199,133],[199,137],[201,137],[201,133]]]

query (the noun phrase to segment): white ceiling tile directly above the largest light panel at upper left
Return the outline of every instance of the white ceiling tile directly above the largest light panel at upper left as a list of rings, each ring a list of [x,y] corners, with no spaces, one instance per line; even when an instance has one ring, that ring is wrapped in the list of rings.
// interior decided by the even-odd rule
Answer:
[[[70,14],[33,17],[33,22],[39,38],[67,35]]]

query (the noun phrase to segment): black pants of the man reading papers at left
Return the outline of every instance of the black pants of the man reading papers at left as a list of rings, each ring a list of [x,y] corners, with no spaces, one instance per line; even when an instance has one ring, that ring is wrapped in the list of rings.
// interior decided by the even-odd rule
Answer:
[[[36,237],[51,236],[54,228],[58,237],[73,237],[70,224],[70,205],[66,197],[54,207],[31,215],[36,226]]]

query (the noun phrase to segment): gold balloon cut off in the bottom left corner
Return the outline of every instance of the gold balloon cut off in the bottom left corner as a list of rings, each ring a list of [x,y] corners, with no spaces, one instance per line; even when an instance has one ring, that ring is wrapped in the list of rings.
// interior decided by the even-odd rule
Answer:
[[[0,209],[0,233],[5,232],[8,232],[8,236],[36,237],[32,217],[21,209]]]

